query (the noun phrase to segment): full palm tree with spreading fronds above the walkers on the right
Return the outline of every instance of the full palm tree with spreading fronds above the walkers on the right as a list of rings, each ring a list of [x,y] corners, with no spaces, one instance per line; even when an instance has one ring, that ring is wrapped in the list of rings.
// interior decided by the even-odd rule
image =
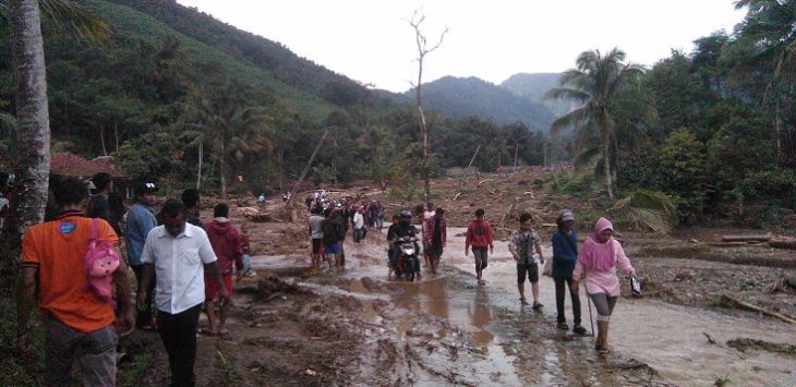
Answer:
[[[608,197],[614,198],[611,176],[612,150],[616,144],[617,97],[637,84],[643,68],[623,63],[625,52],[614,48],[606,55],[600,50],[584,51],[576,61],[576,68],[560,77],[559,88],[547,92],[548,99],[574,99],[583,105],[555,120],[551,131],[557,133],[564,128],[577,131],[576,152],[581,159],[602,157],[603,172]],[[614,149],[612,149],[612,145]],[[614,160],[615,161],[615,160]]]

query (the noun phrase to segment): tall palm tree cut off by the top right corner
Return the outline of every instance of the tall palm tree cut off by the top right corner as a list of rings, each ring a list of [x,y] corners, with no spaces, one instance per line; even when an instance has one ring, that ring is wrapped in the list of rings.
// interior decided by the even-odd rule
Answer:
[[[757,71],[769,68],[771,78],[765,86],[763,104],[773,99],[776,148],[782,150],[782,89],[780,87],[787,70],[796,64],[796,0],[738,0],[735,8],[746,8],[744,21],[735,28],[736,45],[748,50],[743,56],[741,66]],[[789,133],[789,132],[788,132]]]

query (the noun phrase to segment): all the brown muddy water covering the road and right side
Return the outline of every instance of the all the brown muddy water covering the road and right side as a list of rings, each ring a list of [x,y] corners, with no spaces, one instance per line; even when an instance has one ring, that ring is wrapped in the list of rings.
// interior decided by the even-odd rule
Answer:
[[[355,384],[710,386],[727,377],[738,386],[796,385],[796,356],[741,353],[725,344],[739,337],[796,343],[792,326],[649,299],[619,300],[611,324],[614,352],[596,355],[593,338],[555,328],[552,279],[540,281],[542,312],[520,305],[506,242],[495,243],[484,275],[486,286],[475,286],[472,254],[466,257],[463,238],[454,237],[463,231],[448,229],[443,273],[437,277],[424,269],[415,282],[387,281],[384,234],[369,232],[362,244],[347,241],[341,283],[329,280],[337,276],[333,273],[305,282],[317,293],[353,295],[363,305],[363,331],[371,350],[354,365]],[[550,243],[543,247],[550,257]],[[278,262],[287,266],[305,259]],[[530,299],[530,285],[526,292]],[[581,304],[582,325],[589,329],[582,290]],[[571,318],[567,298],[570,327]],[[703,332],[719,344],[708,343]]]

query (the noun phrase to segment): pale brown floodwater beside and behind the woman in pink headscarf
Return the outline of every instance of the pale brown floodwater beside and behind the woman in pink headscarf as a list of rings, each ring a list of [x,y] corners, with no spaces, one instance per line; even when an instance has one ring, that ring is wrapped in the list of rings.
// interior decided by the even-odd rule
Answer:
[[[448,233],[454,235],[463,231],[448,229]],[[463,254],[463,238],[448,241],[445,262],[460,270],[473,273],[472,254],[467,258]],[[506,307],[512,312],[519,311],[514,259],[506,242],[496,242],[495,247],[495,254],[485,270],[487,287],[503,290],[507,298],[512,299]],[[545,257],[552,256],[548,243],[543,243],[543,253]],[[545,305],[540,324],[552,327],[556,315],[555,285],[551,278],[542,277],[540,289],[540,301]],[[526,285],[526,295],[530,298],[529,285]],[[589,310],[582,289],[580,299],[582,325],[590,329]],[[571,328],[568,295],[566,317]],[[703,332],[710,335],[717,344],[709,343]],[[622,298],[612,316],[610,344],[624,356],[649,364],[663,379],[676,385],[712,385],[716,378],[725,376],[739,385],[792,386],[796,383],[796,356],[767,351],[740,353],[726,344],[738,337],[793,344],[796,343],[796,329],[770,318],[735,317],[658,300]],[[543,340],[543,344],[551,343]],[[591,338],[577,344],[590,347]],[[551,344],[550,351],[556,352],[557,347],[560,346]],[[552,358],[551,361],[555,362],[556,359]]]

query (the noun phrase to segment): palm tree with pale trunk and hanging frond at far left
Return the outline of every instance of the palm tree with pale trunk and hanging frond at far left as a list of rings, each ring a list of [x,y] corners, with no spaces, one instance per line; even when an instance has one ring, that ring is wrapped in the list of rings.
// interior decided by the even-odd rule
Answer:
[[[40,7],[40,9],[39,9]],[[16,131],[21,144],[17,170],[25,188],[12,216],[19,225],[44,219],[50,173],[50,123],[41,35],[45,19],[58,31],[108,41],[110,27],[84,5],[71,0],[0,0],[8,22],[16,72]]]

